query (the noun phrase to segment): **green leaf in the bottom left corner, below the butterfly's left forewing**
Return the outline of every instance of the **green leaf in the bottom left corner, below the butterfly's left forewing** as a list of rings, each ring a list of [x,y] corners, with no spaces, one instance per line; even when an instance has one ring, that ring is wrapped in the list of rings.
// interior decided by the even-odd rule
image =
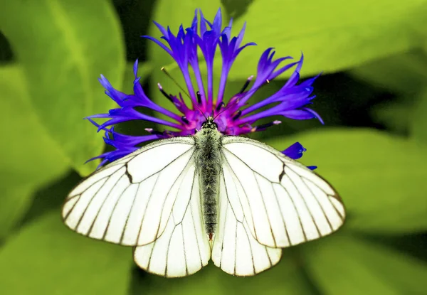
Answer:
[[[127,294],[131,247],[90,240],[39,218],[0,250],[0,294]]]

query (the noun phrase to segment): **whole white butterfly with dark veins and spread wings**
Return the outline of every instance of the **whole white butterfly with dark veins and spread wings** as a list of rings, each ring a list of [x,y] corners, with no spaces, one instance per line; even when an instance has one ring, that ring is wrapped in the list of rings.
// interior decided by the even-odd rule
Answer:
[[[71,191],[66,225],[115,244],[164,277],[212,259],[251,276],[280,248],[329,235],[344,222],[341,198],[302,164],[259,141],[223,136],[212,117],[194,136],[152,144],[95,171]]]

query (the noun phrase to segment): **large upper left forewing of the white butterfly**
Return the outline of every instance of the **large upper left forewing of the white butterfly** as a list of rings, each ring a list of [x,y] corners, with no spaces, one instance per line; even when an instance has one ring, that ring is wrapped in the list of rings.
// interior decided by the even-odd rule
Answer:
[[[147,245],[164,232],[172,211],[190,200],[179,186],[194,178],[194,139],[176,137],[142,147],[85,178],[63,205],[65,225],[120,245]]]

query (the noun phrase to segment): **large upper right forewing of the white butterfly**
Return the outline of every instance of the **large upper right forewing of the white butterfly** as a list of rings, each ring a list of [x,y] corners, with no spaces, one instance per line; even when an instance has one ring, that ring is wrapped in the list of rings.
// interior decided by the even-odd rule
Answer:
[[[224,183],[237,192],[228,194],[230,210],[260,244],[297,245],[344,222],[341,198],[310,169],[253,139],[224,136],[222,144]]]

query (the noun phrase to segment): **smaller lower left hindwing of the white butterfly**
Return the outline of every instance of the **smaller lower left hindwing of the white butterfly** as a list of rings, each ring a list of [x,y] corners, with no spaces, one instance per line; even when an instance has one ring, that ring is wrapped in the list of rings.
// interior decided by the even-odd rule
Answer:
[[[179,195],[191,194],[186,210],[175,212],[163,235],[149,245],[135,247],[134,260],[147,272],[164,277],[184,277],[194,274],[209,262],[211,247],[201,215],[199,177],[194,166],[184,176]],[[182,191],[182,193],[181,193]]]

